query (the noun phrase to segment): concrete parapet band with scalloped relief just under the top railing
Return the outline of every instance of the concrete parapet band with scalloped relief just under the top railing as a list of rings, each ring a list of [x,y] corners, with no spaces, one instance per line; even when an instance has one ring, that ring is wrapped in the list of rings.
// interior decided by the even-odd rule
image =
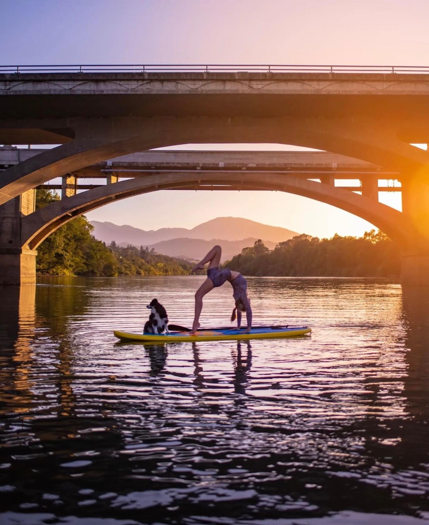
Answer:
[[[318,72],[101,72],[0,75],[0,93],[14,95],[427,95],[429,75]],[[6,89],[7,88],[7,89]],[[107,108],[114,111],[115,108]]]

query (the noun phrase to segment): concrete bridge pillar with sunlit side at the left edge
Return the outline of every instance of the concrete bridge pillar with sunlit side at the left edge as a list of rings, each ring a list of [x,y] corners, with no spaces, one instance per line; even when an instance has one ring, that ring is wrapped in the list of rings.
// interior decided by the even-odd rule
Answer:
[[[21,248],[21,218],[35,210],[36,190],[0,206],[0,285],[34,284],[36,250]]]

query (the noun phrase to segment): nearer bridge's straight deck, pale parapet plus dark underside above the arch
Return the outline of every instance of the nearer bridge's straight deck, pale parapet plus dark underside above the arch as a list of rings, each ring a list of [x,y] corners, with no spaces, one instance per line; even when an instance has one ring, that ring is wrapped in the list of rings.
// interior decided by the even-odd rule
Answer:
[[[421,100],[425,98],[422,95],[428,94],[427,74],[245,71],[0,74],[0,114],[3,120],[10,120],[9,124],[16,119],[131,115],[332,118],[376,114],[397,120],[404,116],[429,116],[429,107]],[[64,123],[43,127],[48,128],[62,130],[64,140],[68,137]],[[8,142],[7,138],[2,140]]]

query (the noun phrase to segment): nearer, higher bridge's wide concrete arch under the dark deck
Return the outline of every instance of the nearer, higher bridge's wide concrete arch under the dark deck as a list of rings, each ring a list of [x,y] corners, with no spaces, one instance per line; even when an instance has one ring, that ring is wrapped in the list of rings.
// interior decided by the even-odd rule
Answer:
[[[104,129],[106,128],[106,129]],[[52,178],[105,159],[184,143],[280,143],[330,151],[391,167],[404,177],[425,170],[426,152],[374,122],[317,118],[154,117],[80,123],[76,138],[5,170],[0,204]]]

